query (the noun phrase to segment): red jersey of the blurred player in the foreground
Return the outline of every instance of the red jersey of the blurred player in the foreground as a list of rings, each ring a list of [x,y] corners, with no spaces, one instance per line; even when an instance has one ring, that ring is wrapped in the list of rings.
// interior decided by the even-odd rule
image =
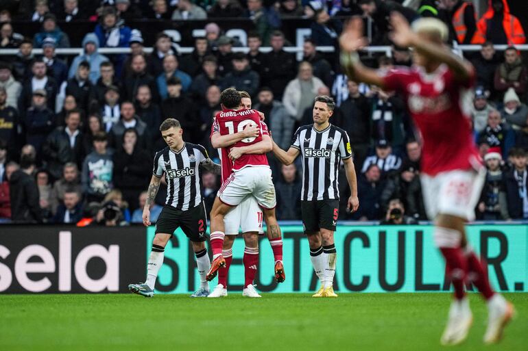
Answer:
[[[427,74],[420,67],[396,68],[384,77],[385,89],[403,95],[422,133],[422,172],[479,169],[481,157],[472,138],[469,109],[475,73],[465,82],[442,64]]]

